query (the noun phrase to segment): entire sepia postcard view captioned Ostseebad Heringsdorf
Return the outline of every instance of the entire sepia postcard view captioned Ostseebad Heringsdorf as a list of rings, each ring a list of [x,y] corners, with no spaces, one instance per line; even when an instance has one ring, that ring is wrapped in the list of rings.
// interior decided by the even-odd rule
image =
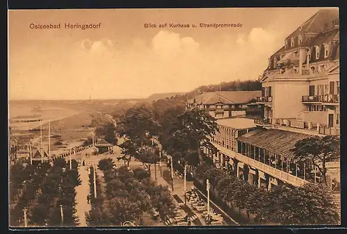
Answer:
[[[8,226],[341,225],[339,8],[8,10]]]

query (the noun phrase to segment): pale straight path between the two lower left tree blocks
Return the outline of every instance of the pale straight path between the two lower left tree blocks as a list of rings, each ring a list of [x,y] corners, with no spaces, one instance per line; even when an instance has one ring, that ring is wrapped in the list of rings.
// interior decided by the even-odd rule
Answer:
[[[78,185],[78,187],[76,187],[76,215],[78,216],[78,219],[80,221],[79,226],[87,226],[87,223],[85,222],[85,212],[88,212],[91,208],[90,204],[87,203],[87,195],[90,192],[87,167],[78,167],[78,173],[80,174],[82,182],[81,185]]]

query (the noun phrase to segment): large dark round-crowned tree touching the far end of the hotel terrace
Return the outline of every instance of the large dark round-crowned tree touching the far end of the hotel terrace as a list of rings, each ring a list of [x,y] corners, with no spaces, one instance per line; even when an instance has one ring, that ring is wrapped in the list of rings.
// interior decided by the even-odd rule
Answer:
[[[178,122],[172,128],[171,135],[178,134],[178,131],[187,134],[191,149],[198,152],[200,162],[203,163],[201,145],[210,142],[210,137],[219,131],[216,119],[205,110],[198,108],[187,110],[177,119]]]

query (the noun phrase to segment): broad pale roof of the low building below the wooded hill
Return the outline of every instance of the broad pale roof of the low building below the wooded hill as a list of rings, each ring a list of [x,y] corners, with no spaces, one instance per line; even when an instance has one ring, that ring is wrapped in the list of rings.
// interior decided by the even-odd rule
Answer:
[[[249,103],[251,99],[256,99],[261,96],[262,91],[219,91],[219,92],[205,92],[196,97],[195,103],[197,104],[243,104]],[[194,99],[190,99],[188,103],[194,103]]]

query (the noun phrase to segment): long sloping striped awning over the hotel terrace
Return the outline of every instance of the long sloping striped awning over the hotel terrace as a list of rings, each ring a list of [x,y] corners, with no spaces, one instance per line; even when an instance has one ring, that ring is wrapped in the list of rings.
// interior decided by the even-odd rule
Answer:
[[[294,133],[289,131],[281,131],[278,129],[264,129],[259,128],[237,137],[238,142],[244,142],[251,144],[254,147],[259,147],[260,149],[265,149],[266,151],[271,151],[277,153],[281,156],[288,158],[296,158],[294,149],[296,142],[298,140],[310,137],[303,133]]]

